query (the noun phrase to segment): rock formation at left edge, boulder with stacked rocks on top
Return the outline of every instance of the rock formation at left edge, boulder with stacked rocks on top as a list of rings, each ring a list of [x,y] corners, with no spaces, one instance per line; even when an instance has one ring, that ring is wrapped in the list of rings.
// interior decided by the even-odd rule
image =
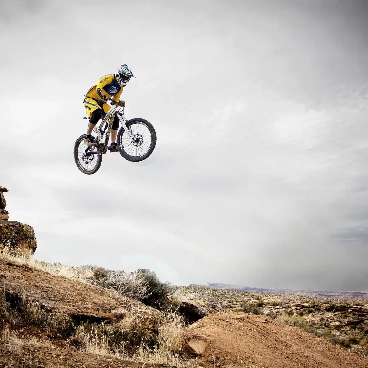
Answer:
[[[9,212],[5,209],[4,192],[8,192],[7,188],[0,186],[0,246],[34,254],[37,242],[33,227],[18,221],[9,221]]]

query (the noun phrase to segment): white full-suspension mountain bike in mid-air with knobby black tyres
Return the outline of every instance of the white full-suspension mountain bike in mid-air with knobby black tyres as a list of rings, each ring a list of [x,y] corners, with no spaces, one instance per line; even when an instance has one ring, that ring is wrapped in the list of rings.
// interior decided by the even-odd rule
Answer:
[[[114,117],[117,116],[121,128],[118,131],[116,142],[120,155],[132,162],[145,160],[151,155],[156,146],[156,131],[149,121],[142,118],[127,120],[124,116],[124,106],[112,98],[112,107],[102,119],[99,126],[93,128],[97,134],[97,146],[87,146],[84,143],[85,134],[82,134],[74,145],[74,161],[82,173],[94,174],[101,166],[102,155],[107,152],[107,144],[111,133]],[[84,117],[84,119],[88,119]]]

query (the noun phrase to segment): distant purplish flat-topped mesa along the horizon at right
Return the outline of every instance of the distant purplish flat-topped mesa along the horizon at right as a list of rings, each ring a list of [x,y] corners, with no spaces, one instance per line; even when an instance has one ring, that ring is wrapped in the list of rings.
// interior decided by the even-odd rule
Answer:
[[[232,284],[220,284],[208,282],[206,285],[190,284],[190,286],[211,287],[213,289],[258,291],[260,293],[280,293],[303,295],[315,298],[336,298],[344,300],[368,300],[368,291],[322,291],[322,290],[293,290],[293,289],[272,289],[262,287],[250,287]]]

